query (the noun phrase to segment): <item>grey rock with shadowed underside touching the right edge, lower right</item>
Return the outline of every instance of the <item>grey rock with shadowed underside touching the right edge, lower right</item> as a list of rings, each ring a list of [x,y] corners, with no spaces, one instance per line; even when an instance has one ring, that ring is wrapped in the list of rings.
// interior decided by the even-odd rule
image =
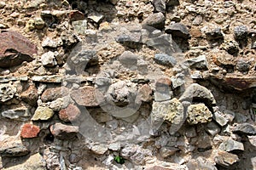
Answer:
[[[242,123],[237,125],[233,129],[233,133],[242,133],[242,134],[247,134],[247,135],[256,135],[256,127],[253,126],[250,123]]]

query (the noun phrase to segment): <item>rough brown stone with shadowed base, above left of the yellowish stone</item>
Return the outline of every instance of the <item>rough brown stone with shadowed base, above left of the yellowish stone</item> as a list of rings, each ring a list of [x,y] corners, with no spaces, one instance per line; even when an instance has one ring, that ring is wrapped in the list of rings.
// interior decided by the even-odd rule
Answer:
[[[30,105],[35,105],[38,100],[38,89],[34,85],[31,85],[26,91],[20,94],[20,98]]]

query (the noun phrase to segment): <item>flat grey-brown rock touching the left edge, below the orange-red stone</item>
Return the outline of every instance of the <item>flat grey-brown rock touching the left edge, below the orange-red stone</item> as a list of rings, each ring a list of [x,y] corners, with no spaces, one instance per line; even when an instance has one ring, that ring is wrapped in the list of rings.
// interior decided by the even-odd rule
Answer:
[[[23,144],[13,143],[6,146],[0,147],[0,156],[3,157],[16,157],[16,156],[26,156],[30,153]]]

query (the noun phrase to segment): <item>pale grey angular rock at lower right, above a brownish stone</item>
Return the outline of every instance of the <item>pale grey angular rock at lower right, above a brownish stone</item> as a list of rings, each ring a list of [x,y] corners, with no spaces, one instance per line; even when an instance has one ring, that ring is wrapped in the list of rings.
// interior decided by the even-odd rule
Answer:
[[[225,140],[223,143],[219,144],[218,149],[224,151],[244,150],[244,146],[241,142],[237,142],[233,139],[228,139]]]

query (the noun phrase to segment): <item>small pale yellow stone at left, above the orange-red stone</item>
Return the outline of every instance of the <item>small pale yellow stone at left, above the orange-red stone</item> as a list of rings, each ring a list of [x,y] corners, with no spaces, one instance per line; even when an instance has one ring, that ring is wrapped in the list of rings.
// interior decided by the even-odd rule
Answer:
[[[48,107],[38,106],[35,114],[32,116],[32,121],[47,121],[54,115],[54,111]]]

